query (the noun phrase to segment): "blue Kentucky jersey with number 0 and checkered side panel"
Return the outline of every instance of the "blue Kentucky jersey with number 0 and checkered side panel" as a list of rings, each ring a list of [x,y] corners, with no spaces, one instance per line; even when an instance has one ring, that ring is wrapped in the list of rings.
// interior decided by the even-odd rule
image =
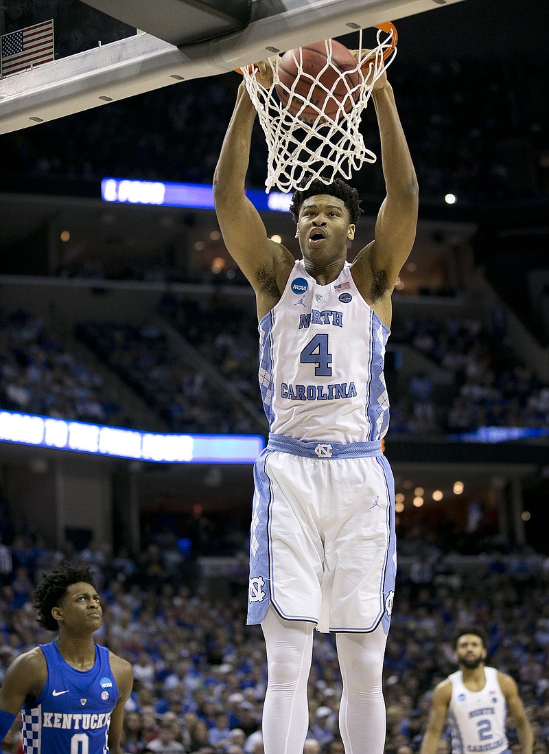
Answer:
[[[23,705],[25,754],[106,754],[111,712],[118,689],[108,649],[96,644],[90,670],[75,670],[63,660],[56,642],[41,644],[47,683]]]

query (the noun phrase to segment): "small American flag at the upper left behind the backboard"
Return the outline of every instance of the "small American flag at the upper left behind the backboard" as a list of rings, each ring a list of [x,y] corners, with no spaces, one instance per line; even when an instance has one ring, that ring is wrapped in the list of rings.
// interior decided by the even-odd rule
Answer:
[[[53,20],[0,37],[2,75],[9,76],[53,60]]]

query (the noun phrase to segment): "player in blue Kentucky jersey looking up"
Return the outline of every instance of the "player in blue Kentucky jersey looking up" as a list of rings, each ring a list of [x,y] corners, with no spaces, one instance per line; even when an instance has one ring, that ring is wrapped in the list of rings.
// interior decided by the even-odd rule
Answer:
[[[102,609],[87,568],[63,563],[35,592],[38,624],[58,631],[8,667],[0,688],[0,742],[23,713],[25,754],[123,754],[132,666],[93,641]]]

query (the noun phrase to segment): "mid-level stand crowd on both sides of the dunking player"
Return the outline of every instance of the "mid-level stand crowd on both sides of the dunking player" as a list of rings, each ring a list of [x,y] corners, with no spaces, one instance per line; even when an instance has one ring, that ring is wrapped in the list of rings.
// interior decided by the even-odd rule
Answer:
[[[231,305],[202,305],[200,317],[196,310],[194,302],[174,296],[164,297],[159,310],[166,325],[191,346],[191,355],[149,320],[139,326],[83,322],[75,335],[145,400],[169,431],[261,431],[255,318]],[[41,317],[23,311],[4,314],[0,342],[0,407],[136,426],[138,419],[94,369],[94,355],[84,359],[75,354],[63,334]],[[517,360],[501,333],[490,332],[480,320],[402,317],[397,306],[391,345],[398,349],[401,344],[426,357],[429,367],[403,380],[388,361],[389,435],[549,425],[549,385]],[[212,374],[221,383],[212,382]]]

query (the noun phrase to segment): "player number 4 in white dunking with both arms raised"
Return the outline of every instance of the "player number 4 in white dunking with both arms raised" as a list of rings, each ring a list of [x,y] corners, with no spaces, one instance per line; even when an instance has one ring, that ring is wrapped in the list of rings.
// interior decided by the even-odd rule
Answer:
[[[265,62],[259,74],[269,86]],[[394,483],[383,358],[395,280],[416,233],[418,188],[386,73],[374,84],[386,198],[352,265],[358,193],[337,179],[294,194],[302,259],[267,238],[245,195],[255,109],[244,84],[214,177],[225,244],[255,290],[270,437],[255,464],[249,624],[269,679],[266,754],[302,754],[313,630],[336,634],[347,754],[381,754],[381,676],[395,584]]]

